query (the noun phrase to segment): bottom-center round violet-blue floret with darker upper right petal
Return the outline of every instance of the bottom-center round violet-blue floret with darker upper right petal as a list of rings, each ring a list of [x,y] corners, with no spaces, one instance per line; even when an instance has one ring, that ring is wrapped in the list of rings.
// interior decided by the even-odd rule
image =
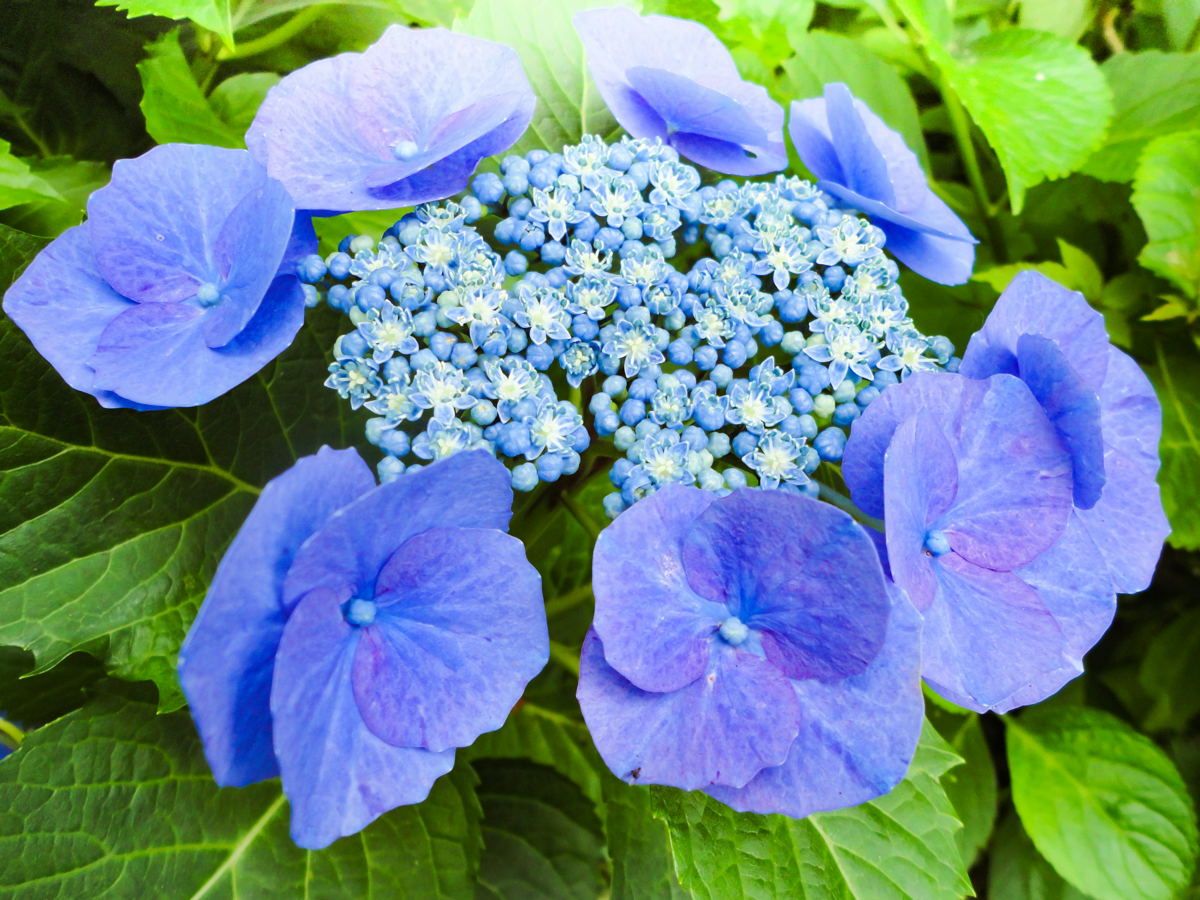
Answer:
[[[904,778],[920,617],[845,512],[666,486],[601,533],[593,587],[578,698],[618,778],[796,817]]]

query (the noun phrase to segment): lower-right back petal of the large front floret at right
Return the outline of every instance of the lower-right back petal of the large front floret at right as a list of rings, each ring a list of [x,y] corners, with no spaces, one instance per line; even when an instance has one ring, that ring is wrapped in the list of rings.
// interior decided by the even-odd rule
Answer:
[[[1058,542],[1014,575],[1038,593],[1062,629],[1066,637],[1063,665],[1030,679],[994,707],[997,713],[1038,703],[1081,674],[1084,654],[1112,624],[1117,608],[1108,568],[1078,511],[1072,515]]]

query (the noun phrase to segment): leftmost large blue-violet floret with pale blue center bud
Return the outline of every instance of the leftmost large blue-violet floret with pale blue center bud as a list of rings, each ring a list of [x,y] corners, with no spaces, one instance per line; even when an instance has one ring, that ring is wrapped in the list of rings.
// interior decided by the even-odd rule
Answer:
[[[206,403],[278,355],[304,322],[307,217],[245,150],[164,144],[113,167],[8,289],[4,311],[104,407]]]

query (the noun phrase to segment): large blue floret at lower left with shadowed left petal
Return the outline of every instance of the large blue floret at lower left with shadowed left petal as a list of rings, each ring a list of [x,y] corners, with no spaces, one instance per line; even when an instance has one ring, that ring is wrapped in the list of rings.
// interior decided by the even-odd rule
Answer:
[[[179,658],[217,782],[282,775],[292,836],[318,848],[419,803],[500,727],[550,654],[511,498],[481,451],[376,487],[323,448],[272,480]]]

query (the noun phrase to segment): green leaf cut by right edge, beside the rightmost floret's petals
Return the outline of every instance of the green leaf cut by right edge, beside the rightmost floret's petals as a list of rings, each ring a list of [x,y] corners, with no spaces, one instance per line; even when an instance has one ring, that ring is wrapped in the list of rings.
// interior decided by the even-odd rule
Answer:
[[[1170,544],[1200,550],[1200,361],[1195,355],[1166,355],[1146,374],[1163,404],[1163,468],[1158,485],[1171,523]]]

